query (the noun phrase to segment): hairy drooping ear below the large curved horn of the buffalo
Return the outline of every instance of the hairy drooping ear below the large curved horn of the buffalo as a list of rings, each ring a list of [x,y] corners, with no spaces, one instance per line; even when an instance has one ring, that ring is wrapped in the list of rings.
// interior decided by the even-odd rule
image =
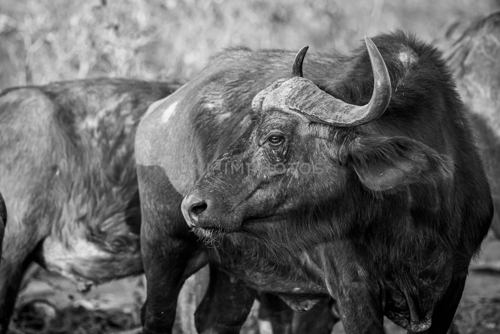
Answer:
[[[437,184],[453,174],[447,156],[406,137],[358,137],[350,158],[359,181],[374,191]]]

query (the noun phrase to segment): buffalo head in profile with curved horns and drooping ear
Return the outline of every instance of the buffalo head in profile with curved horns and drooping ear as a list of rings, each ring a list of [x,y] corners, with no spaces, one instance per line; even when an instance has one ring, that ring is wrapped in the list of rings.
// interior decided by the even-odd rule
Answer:
[[[306,238],[327,221],[328,239],[368,219],[361,207],[376,211],[370,203],[380,196],[449,175],[432,148],[377,130],[391,82],[373,42],[366,37],[365,44],[374,82],[365,105],[341,101],[303,78],[307,47],[297,54],[291,79],[279,79],[254,97],[246,129],[182,201],[196,234]]]

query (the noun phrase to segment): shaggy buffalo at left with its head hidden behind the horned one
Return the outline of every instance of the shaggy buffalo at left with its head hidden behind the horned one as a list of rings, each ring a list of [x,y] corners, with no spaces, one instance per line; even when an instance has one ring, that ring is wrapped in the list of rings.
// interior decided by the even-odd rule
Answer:
[[[9,221],[0,264],[0,332],[26,266],[89,284],[142,272],[134,132],[181,84],[89,79],[0,95],[0,191]]]

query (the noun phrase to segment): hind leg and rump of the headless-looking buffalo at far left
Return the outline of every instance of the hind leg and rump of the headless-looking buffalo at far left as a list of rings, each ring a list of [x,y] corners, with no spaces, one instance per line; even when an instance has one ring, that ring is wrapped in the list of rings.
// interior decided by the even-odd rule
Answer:
[[[8,112],[12,105],[15,113]],[[50,108],[50,100],[30,90],[5,93],[0,103],[0,189],[9,214],[0,263],[0,332],[8,328],[19,284],[33,259],[33,251],[50,233],[48,217],[54,206],[55,176],[50,160],[51,120],[44,116]],[[36,175],[36,180],[28,175]]]

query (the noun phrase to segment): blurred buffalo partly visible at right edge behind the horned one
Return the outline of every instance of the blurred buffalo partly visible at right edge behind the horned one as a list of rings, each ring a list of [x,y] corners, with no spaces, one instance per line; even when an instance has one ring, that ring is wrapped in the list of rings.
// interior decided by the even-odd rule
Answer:
[[[482,153],[495,213],[491,229],[500,238],[500,12],[474,22],[445,60],[469,111]]]

